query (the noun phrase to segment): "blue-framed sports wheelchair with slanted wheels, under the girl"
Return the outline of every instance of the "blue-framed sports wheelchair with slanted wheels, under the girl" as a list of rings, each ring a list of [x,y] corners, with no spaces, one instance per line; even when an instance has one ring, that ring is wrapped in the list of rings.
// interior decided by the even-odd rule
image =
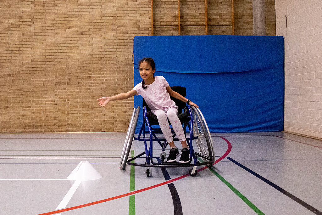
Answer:
[[[186,96],[186,88],[181,86],[171,87],[173,91],[180,93],[182,96]],[[202,112],[199,108],[194,106],[186,105],[186,103],[171,97],[171,99],[178,106],[178,118],[183,125],[183,130],[186,135],[186,127],[189,128],[189,138],[186,138],[187,144],[190,148],[190,161],[188,163],[179,163],[179,162],[166,162],[166,146],[168,143],[165,138],[159,138],[156,136],[158,133],[162,133],[161,129],[158,127],[159,123],[156,115],[151,112],[151,109],[147,106],[146,102],[143,99],[143,123],[140,129],[140,132],[137,137],[134,137],[134,133],[137,126],[137,119],[140,112],[140,106],[133,109],[133,114],[128,126],[128,132],[126,135],[121,160],[120,168],[125,170],[126,165],[134,165],[147,167],[146,174],[147,177],[150,176],[151,167],[193,167],[190,169],[189,174],[191,176],[196,176],[197,166],[206,165],[211,167],[215,161],[215,155],[213,151],[213,143],[210,136],[210,132],[207,126],[207,123],[204,119]],[[170,122],[169,122],[170,124]],[[175,133],[171,128],[173,133],[174,141],[178,141],[178,138],[175,138]],[[147,134],[149,136],[147,137]],[[143,138],[141,138],[143,136]],[[128,156],[131,151],[131,145],[134,140],[143,141],[145,146],[145,151],[138,154],[137,156],[128,159]],[[150,146],[148,148],[148,141],[150,141]],[[160,154],[160,159],[157,159],[158,162],[155,162],[153,159],[153,141],[157,141],[162,148]],[[197,146],[199,152],[194,151],[194,147]],[[145,163],[135,163],[134,161],[137,158],[140,158],[145,154],[146,162]],[[199,159],[198,159],[199,158]]]

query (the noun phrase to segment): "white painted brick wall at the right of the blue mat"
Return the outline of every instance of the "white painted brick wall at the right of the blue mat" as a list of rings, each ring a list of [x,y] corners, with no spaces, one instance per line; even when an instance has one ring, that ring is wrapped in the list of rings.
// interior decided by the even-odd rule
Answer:
[[[285,39],[284,130],[322,138],[322,0],[275,5],[276,35]]]

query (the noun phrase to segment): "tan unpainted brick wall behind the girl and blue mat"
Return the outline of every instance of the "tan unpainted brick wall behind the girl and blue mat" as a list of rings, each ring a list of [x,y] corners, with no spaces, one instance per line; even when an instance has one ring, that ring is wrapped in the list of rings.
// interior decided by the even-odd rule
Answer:
[[[251,0],[235,0],[235,34],[252,35]],[[275,11],[266,0],[267,33]],[[126,131],[133,98],[133,37],[150,35],[149,0],[0,0],[0,132]],[[204,0],[181,0],[181,23],[204,23]],[[192,9],[193,8],[193,9]],[[230,0],[208,1],[208,23],[230,23]],[[154,24],[177,24],[177,1],[154,1]],[[269,27],[268,27],[269,25]],[[270,29],[270,30],[268,30]],[[203,35],[204,27],[182,27]],[[154,27],[177,35],[178,27]],[[230,35],[230,27],[209,27]]]

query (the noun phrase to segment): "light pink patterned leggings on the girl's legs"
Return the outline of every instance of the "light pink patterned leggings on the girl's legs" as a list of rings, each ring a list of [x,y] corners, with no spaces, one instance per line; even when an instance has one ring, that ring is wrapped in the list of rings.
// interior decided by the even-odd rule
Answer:
[[[168,119],[172,125],[173,130],[175,131],[175,134],[177,135],[180,142],[185,141],[185,133],[182,128],[182,124],[177,116],[178,110],[175,108],[170,108],[169,110],[161,111],[157,110],[154,112],[156,117],[158,118],[158,122],[160,124],[161,131],[166,138],[167,142],[172,142],[173,137],[170,129],[170,125],[168,122]]]

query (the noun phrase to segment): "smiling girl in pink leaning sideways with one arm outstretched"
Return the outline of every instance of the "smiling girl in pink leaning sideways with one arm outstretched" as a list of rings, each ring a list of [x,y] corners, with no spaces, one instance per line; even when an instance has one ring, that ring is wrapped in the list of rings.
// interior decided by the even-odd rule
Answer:
[[[175,102],[170,99],[170,96],[179,99],[188,105],[193,105],[195,107],[198,107],[198,105],[179,93],[174,92],[163,76],[154,76],[156,66],[152,58],[143,58],[139,61],[138,65],[140,76],[143,79],[141,83],[137,84],[133,90],[128,93],[120,93],[111,97],[102,97],[98,99],[98,104],[104,107],[110,101],[128,99],[134,95],[141,95],[147,102],[147,105],[151,108],[151,112],[156,115],[161,131],[171,147],[167,161],[173,162],[179,157],[179,150],[173,142],[168,122],[169,120],[176,136],[182,144],[182,155],[179,162],[188,163],[190,160],[189,146],[187,145],[185,133],[177,116],[178,107],[175,105]]]

